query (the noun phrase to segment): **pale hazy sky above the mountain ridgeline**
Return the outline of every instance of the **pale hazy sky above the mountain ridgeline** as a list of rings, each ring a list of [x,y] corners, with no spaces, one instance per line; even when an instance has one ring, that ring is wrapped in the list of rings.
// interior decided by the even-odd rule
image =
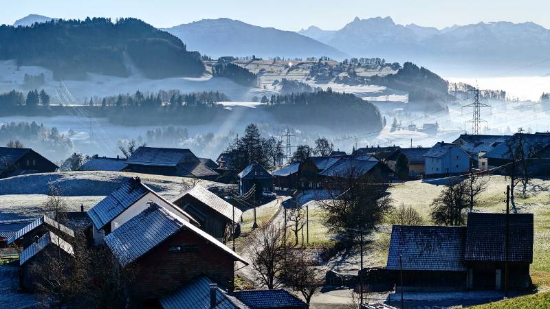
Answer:
[[[439,28],[479,21],[533,21],[550,28],[549,0],[21,0],[1,8],[0,23],[10,25],[34,13],[64,19],[132,16],[156,27],[228,17],[283,30],[309,25],[336,30],[355,16],[391,16],[395,23]]]

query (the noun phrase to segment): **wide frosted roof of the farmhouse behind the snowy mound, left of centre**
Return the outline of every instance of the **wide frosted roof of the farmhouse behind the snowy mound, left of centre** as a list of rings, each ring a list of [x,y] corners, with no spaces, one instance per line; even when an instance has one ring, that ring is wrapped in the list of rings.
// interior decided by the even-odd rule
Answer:
[[[189,149],[141,146],[126,160],[126,163],[133,165],[176,166],[183,161],[199,162],[199,159]]]

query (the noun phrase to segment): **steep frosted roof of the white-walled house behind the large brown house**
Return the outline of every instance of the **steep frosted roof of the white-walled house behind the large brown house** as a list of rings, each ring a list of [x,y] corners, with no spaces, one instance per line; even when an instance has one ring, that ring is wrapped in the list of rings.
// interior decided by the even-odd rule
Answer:
[[[122,214],[122,212],[140,198],[146,194],[151,193],[160,198],[165,203],[172,205],[175,209],[178,209],[181,214],[186,216],[192,222],[198,224],[195,218],[192,218],[184,210],[181,210],[176,205],[173,205],[166,198],[163,198],[157,192],[153,191],[150,187],[142,183],[142,181],[136,177],[131,178],[125,183],[122,183],[115,191],[111,192],[109,196],[105,197],[92,209],[89,209],[88,216],[91,218],[91,222],[94,223],[96,229],[102,229],[105,225],[109,224],[114,218]]]

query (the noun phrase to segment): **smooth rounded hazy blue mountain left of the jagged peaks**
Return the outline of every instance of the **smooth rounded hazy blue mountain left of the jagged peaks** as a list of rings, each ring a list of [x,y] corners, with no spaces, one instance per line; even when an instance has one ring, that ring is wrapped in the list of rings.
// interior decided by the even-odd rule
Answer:
[[[341,59],[347,56],[334,47],[296,32],[259,27],[232,19],[203,19],[164,30],[180,38],[190,49],[212,57],[329,56]]]

